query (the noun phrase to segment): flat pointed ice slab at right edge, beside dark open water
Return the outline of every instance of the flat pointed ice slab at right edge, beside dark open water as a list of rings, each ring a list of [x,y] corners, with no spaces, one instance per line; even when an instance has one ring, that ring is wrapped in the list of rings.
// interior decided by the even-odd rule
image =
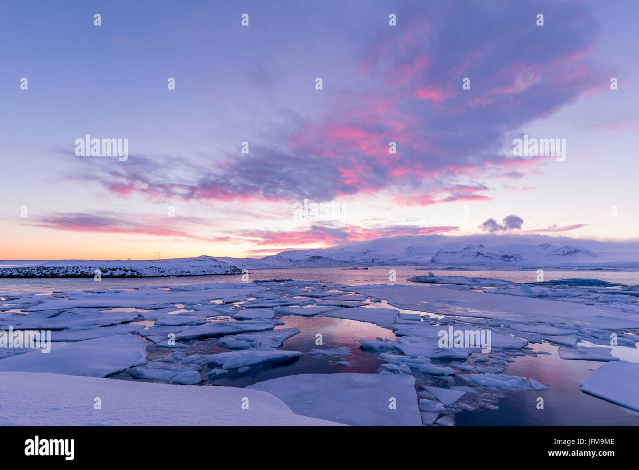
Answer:
[[[581,380],[582,391],[639,412],[639,364],[610,362]]]

